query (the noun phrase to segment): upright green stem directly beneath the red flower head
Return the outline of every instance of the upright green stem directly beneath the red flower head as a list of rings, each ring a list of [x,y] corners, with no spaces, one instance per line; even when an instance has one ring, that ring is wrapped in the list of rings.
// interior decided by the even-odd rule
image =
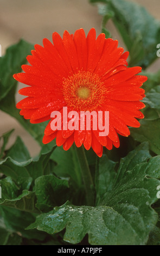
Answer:
[[[93,206],[94,205],[93,180],[92,180],[92,175],[88,166],[84,146],[81,146],[80,148],[77,148],[75,146],[75,150],[79,160],[82,179],[84,181],[84,186],[86,191],[86,203],[87,205]]]

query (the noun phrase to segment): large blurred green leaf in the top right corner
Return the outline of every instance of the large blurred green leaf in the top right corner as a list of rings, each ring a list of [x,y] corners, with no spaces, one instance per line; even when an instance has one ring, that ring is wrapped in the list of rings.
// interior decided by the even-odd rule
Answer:
[[[157,58],[160,23],[144,7],[125,0],[90,1],[104,2],[105,16],[108,15],[108,9],[113,11],[114,25],[130,51],[130,66],[140,65],[146,68]]]

